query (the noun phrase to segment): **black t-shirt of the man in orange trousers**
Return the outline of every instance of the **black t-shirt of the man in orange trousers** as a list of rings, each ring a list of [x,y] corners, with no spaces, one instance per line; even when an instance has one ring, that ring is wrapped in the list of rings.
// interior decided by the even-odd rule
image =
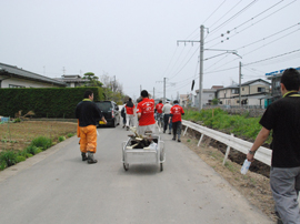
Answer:
[[[79,120],[79,126],[97,125],[102,113],[94,102],[81,101],[77,104],[76,118]]]

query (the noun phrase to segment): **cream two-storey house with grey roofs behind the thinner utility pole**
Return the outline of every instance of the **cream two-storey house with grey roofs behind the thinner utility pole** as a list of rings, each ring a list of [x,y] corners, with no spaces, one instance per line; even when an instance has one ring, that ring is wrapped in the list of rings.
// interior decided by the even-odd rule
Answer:
[[[270,94],[269,82],[257,79],[244,82],[241,86],[237,83],[217,90],[217,98],[220,104],[239,105],[240,90],[242,105],[264,105],[264,98]]]

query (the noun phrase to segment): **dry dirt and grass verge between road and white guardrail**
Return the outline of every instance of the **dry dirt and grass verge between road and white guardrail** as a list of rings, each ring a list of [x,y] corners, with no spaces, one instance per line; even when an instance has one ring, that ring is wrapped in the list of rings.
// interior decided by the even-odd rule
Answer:
[[[230,159],[227,160],[223,166],[224,154],[220,149],[211,146],[213,142],[209,138],[203,139],[201,147],[197,146],[199,139],[194,139],[193,133],[187,133],[181,141],[189,149],[194,151],[207,164],[213,167],[216,172],[223,176],[233,187],[241,192],[251,204],[276,221],[273,212],[274,203],[270,190],[270,181],[267,176],[251,171],[242,175],[240,173],[241,165],[232,162]],[[246,155],[243,155],[243,160],[244,159]]]

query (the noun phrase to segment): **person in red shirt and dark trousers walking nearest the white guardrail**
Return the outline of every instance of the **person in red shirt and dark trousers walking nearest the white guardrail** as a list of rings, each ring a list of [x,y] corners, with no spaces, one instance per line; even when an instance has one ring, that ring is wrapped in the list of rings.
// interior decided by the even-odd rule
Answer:
[[[174,105],[171,108],[170,111],[170,119],[169,123],[172,122],[173,128],[173,139],[176,141],[176,135],[178,134],[178,142],[181,142],[180,135],[181,135],[181,115],[184,115],[183,109],[178,104],[178,101],[174,100]],[[171,121],[172,119],[172,121]]]

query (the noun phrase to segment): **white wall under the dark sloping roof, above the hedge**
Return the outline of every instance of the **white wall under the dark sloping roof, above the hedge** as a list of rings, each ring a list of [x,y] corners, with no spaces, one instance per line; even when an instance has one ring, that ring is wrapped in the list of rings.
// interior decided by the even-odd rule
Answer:
[[[17,79],[17,78],[9,78],[7,77],[1,77],[0,80],[1,82],[1,88],[53,88],[53,86],[59,86],[56,84],[50,84],[50,83],[44,83],[44,82],[37,82],[37,81],[31,81],[31,80],[23,80],[23,79]]]

